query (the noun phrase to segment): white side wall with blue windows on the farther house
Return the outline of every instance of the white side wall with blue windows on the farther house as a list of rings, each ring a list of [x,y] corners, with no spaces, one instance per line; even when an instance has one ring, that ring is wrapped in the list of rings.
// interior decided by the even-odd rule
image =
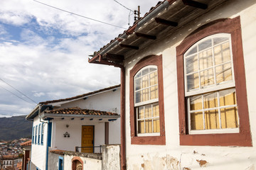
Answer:
[[[35,130],[36,130],[36,125],[39,125],[39,124],[41,124],[41,122],[38,116],[36,116],[36,118],[33,119],[33,127],[35,127]],[[45,123],[43,145],[41,145],[41,142],[40,142],[40,145],[38,145],[38,133],[36,137],[36,140],[37,140],[36,144],[34,142],[31,145],[31,162],[41,170],[46,169],[47,128],[48,128],[48,125],[47,123]]]

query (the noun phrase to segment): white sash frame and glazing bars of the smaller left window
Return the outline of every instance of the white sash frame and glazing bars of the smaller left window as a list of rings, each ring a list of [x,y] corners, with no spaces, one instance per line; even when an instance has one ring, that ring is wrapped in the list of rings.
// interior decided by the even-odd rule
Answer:
[[[158,68],[157,68],[156,65],[148,65],[146,67],[142,67],[142,69],[139,69],[139,72],[137,72],[137,74],[142,72],[144,69],[149,69],[149,68],[156,69],[156,71],[154,71],[154,72],[156,72],[157,77],[159,77]],[[151,73],[152,72],[149,72],[147,74],[151,74]],[[136,102],[136,92],[143,90],[143,89],[139,89],[139,90],[136,91],[136,78],[135,77],[137,76],[137,74],[134,75],[134,92],[133,92],[134,93],[134,107],[135,107],[135,110],[136,110],[135,113],[136,113],[137,136],[138,137],[142,137],[142,136],[160,136],[160,132],[154,132],[154,123],[153,123],[154,118],[159,118],[159,121],[160,121],[160,115],[158,117],[153,117],[153,115],[152,115],[151,118],[143,118],[143,119],[138,118],[139,117],[139,107],[140,106],[144,106],[144,109],[145,109],[146,105],[151,104],[151,114],[153,114],[152,108],[154,106],[154,103],[159,103],[159,97],[154,98],[154,99],[150,99],[150,90],[149,90],[149,100],[148,101],[142,101],[142,102],[139,102],[139,103],[135,103]],[[145,74],[145,75],[147,75],[147,74]],[[145,76],[145,75],[143,75],[143,76]],[[142,78],[142,77],[140,77],[140,78]],[[142,83],[142,81],[141,81],[141,83]],[[157,81],[157,84],[154,84],[153,86],[157,86],[157,89],[159,90],[159,82],[158,81]],[[144,89],[150,89],[150,87],[153,87],[153,86],[150,86],[150,79],[149,79],[149,86],[144,88]],[[145,113],[145,111],[144,111],[144,113]],[[145,133],[139,133],[139,126],[138,126],[139,123],[138,122],[139,122],[139,120],[146,120],[146,119],[151,119],[152,120],[152,132],[151,133],[146,133],[146,130],[145,130]]]

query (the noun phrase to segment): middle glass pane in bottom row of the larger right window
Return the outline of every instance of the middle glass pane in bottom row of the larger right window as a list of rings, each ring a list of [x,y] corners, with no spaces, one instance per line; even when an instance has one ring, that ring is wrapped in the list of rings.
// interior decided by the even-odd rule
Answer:
[[[219,129],[218,110],[205,111],[206,129]]]

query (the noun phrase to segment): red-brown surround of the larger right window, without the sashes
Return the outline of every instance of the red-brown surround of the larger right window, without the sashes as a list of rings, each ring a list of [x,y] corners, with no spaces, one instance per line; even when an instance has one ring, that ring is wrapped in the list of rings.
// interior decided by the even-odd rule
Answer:
[[[235,74],[235,90],[238,102],[240,120],[239,133],[189,135],[186,114],[186,98],[184,91],[183,54],[195,42],[217,33],[230,33],[233,50],[233,67]],[[178,118],[180,145],[209,145],[209,146],[241,146],[252,147],[250,121],[247,107],[247,91],[245,84],[245,64],[242,52],[242,35],[240,16],[233,19],[219,19],[208,23],[188,35],[176,47],[177,79],[178,79]]]

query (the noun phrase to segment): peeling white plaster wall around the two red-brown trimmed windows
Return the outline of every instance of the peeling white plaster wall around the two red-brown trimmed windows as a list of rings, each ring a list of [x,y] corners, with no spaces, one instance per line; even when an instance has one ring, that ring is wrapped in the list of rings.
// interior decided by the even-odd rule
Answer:
[[[256,166],[256,1],[226,1],[214,11],[196,18],[176,33],[166,33],[164,39],[126,57],[126,153],[127,169],[255,169]],[[247,100],[254,147],[209,147],[179,145],[176,46],[199,26],[218,18],[240,16],[245,60]],[[163,56],[164,119],[166,145],[131,145],[129,120],[129,71],[148,55]]]

